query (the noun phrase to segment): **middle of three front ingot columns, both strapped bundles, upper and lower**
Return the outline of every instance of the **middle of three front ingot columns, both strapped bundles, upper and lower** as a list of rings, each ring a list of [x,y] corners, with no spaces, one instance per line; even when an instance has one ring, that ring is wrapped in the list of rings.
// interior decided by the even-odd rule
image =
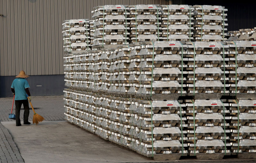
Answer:
[[[230,155],[226,136],[230,132],[226,122],[228,104],[225,103],[227,100],[220,100],[223,95],[229,95],[226,77],[228,45],[204,41],[187,44],[186,83],[188,96],[191,96],[186,100],[188,140],[191,142],[188,152],[197,159],[221,159]]]

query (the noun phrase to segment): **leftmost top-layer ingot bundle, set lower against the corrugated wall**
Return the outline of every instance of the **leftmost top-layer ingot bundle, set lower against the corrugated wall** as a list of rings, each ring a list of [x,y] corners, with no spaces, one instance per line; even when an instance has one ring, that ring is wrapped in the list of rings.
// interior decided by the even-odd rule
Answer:
[[[64,20],[62,23],[64,52],[91,49],[90,22],[88,19]]]

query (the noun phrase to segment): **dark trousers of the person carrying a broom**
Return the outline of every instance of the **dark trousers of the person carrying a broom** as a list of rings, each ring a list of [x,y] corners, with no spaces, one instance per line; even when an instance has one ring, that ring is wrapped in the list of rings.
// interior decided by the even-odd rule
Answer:
[[[16,125],[20,125],[20,108],[23,104],[24,107],[24,115],[23,120],[24,122],[28,122],[28,115],[29,115],[29,107],[28,107],[28,100],[15,100],[15,119]]]

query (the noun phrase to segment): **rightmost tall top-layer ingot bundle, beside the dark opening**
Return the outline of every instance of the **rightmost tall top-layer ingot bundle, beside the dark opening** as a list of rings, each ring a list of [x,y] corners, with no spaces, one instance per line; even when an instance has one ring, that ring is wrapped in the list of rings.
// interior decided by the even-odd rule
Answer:
[[[225,41],[228,9],[223,6],[194,5],[195,41]]]

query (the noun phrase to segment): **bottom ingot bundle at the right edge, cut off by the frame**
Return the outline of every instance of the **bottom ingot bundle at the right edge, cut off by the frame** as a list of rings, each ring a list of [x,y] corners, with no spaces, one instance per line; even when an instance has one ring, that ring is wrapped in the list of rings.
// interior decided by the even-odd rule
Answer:
[[[256,158],[256,100],[229,100],[231,154]]]

